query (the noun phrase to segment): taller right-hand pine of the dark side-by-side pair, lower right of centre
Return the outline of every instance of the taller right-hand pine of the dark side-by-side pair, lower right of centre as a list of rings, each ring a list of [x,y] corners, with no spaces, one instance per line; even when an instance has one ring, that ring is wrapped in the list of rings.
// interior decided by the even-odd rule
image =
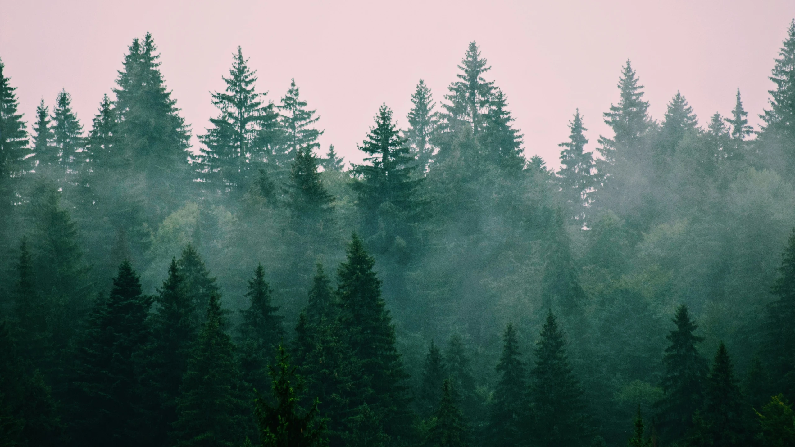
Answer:
[[[541,328],[534,354],[528,435],[533,445],[564,447],[591,441],[583,389],[568,363],[564,335],[552,311]]]

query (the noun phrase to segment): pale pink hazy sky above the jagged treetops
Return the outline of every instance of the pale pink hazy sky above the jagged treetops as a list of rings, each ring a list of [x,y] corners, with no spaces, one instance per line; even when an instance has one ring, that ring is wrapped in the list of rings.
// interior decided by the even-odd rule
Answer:
[[[477,41],[487,80],[506,92],[525,154],[557,166],[576,107],[590,149],[608,134],[603,111],[618,100],[632,60],[651,113],[661,119],[677,90],[705,122],[743,93],[752,123],[766,107],[767,76],[795,2],[134,2],[0,0],[0,58],[30,123],[41,98],[52,107],[65,88],[88,128],[114,87],[134,37],[153,34],[162,72],[193,134],[216,114],[210,91],[223,89],[242,45],[260,91],[276,101],[291,78],[320,115],[329,143],[349,161],[381,103],[405,126],[410,95],[425,79],[437,101],[455,79],[467,44]],[[196,139],[194,138],[194,143]]]

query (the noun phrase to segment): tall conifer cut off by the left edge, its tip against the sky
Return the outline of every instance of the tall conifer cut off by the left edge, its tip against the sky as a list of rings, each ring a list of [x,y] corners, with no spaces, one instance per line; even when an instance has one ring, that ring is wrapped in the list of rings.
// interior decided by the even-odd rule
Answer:
[[[29,150],[25,122],[17,111],[19,103],[14,93],[17,88],[11,87],[4,69],[0,60],[0,227],[5,229],[11,216],[10,207],[17,201],[21,187],[19,178],[29,169],[25,162]]]

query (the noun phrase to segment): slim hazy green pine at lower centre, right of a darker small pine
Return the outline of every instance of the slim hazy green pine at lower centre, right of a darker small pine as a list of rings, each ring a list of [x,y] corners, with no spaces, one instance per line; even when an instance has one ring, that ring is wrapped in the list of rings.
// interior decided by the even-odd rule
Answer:
[[[475,374],[472,371],[471,356],[463,342],[463,337],[454,333],[448,341],[447,352],[444,352],[444,367],[456,389],[456,403],[464,416],[480,422],[483,419],[483,402],[477,393]]]

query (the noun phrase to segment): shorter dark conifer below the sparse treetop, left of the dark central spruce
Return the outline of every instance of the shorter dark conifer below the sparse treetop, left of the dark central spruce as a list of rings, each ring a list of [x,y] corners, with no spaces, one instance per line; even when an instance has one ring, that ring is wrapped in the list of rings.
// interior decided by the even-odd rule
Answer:
[[[334,196],[326,191],[318,161],[311,149],[300,147],[294,152],[289,183],[286,185],[285,205],[293,213],[293,231],[301,235],[316,235],[329,230],[334,210]]]

